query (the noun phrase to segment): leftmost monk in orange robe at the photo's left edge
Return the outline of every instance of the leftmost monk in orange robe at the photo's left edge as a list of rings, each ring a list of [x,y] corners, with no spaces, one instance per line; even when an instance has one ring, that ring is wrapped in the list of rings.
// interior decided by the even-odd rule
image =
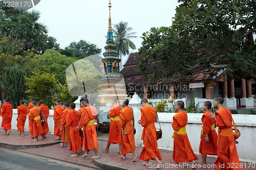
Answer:
[[[9,103],[9,99],[4,100],[2,106],[2,128],[4,129],[4,135],[9,135],[12,129],[12,105]]]

